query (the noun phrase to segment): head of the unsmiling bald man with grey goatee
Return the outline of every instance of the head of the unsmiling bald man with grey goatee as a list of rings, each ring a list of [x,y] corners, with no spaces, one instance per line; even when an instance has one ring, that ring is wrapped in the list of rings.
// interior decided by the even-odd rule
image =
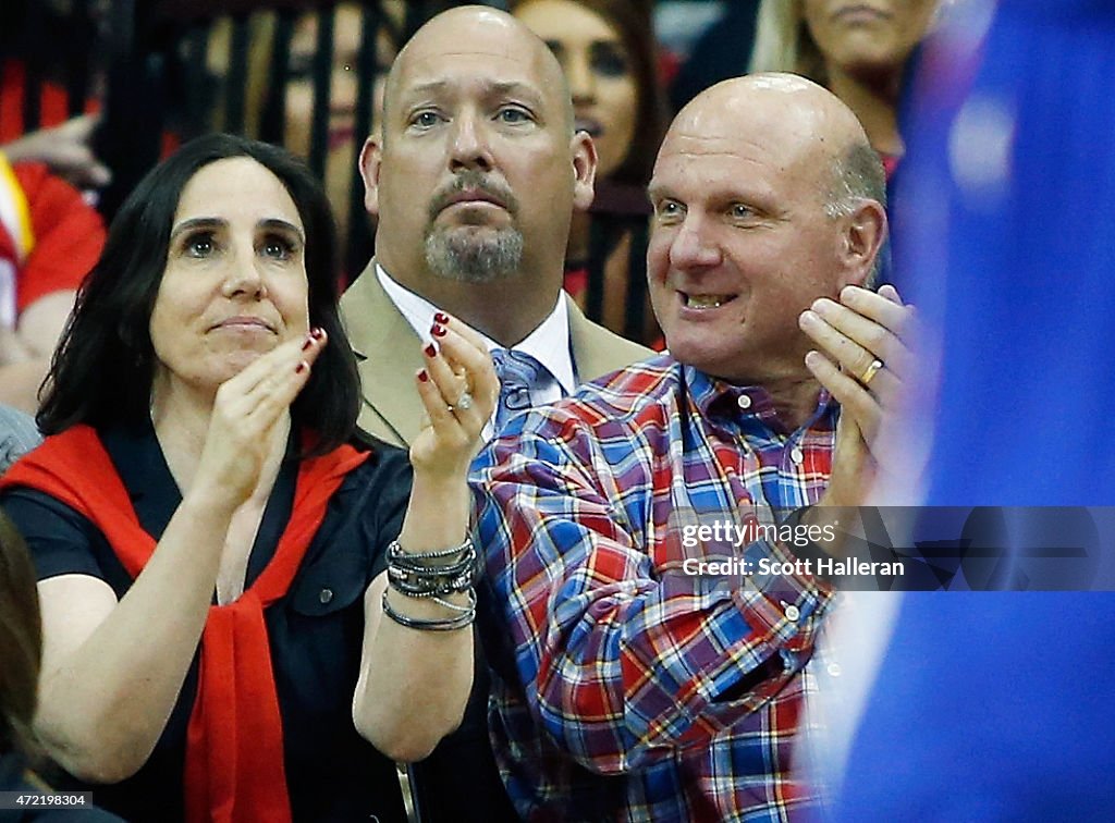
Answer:
[[[459,7],[418,30],[386,89],[382,130],[360,156],[377,261],[517,342],[553,310],[573,212],[592,202],[595,152],[573,132],[558,60],[510,14]]]

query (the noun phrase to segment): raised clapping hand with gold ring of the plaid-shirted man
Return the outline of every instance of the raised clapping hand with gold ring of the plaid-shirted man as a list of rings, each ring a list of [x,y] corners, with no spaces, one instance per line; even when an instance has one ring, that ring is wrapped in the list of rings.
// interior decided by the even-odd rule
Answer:
[[[879,292],[850,285],[840,302],[821,298],[804,311],[802,330],[817,345],[805,365],[841,404],[833,473],[825,503],[860,505],[882,456],[879,432],[910,381],[915,313],[893,285]]]

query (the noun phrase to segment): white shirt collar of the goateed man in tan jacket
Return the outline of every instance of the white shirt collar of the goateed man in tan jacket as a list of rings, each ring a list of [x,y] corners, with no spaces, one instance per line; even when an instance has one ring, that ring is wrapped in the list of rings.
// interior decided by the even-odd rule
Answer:
[[[430,339],[429,329],[434,325],[434,313],[439,309],[426,298],[399,285],[378,262],[376,263],[376,278],[390,301],[410,323],[415,333],[423,341],[428,341]],[[484,339],[488,351],[503,348],[484,332],[477,331],[476,333]],[[573,371],[573,355],[570,348],[569,307],[565,304],[563,294],[558,296],[553,311],[546,319],[522,342],[512,348],[533,357],[554,376],[564,394],[573,394],[573,389],[576,388],[576,376]]]

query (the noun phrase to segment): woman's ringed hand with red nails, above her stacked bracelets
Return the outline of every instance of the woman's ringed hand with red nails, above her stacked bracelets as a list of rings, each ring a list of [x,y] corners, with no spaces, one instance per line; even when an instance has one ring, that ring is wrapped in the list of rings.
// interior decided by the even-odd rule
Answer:
[[[492,417],[500,381],[492,356],[473,329],[444,312],[435,316],[426,367],[415,378],[429,424],[410,444],[416,475],[463,478]]]

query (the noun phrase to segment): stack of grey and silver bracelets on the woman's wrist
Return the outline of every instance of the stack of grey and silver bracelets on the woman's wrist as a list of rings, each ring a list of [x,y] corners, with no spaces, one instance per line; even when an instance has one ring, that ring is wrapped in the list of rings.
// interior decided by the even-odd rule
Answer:
[[[428,561],[447,561],[437,565]],[[429,598],[438,606],[457,612],[456,617],[446,620],[424,620],[400,614],[387,601],[384,592],[384,613],[399,626],[420,631],[453,631],[471,626],[476,618],[476,591],[473,587],[479,577],[476,562],[476,546],[472,538],[453,549],[433,552],[407,552],[399,541],[391,541],[387,546],[387,582],[400,594],[408,598]],[[457,606],[444,600],[448,594],[468,593],[468,604]]]

